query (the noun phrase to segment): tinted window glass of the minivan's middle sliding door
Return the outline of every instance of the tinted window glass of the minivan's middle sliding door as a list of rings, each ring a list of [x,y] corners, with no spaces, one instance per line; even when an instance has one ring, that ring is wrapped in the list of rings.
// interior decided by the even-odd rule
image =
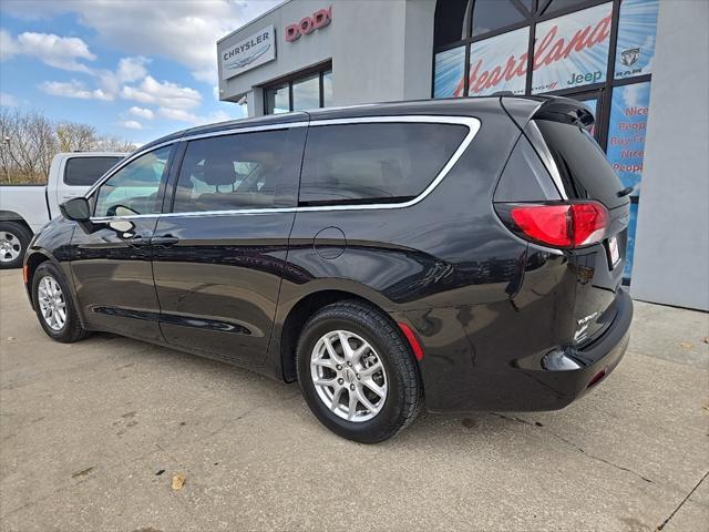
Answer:
[[[292,171],[288,133],[276,130],[191,141],[179,168],[173,212],[276,206],[281,178]]]

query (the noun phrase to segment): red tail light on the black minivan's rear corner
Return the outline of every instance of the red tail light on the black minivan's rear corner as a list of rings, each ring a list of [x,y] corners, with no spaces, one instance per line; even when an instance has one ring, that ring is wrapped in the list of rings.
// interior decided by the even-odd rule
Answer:
[[[551,247],[573,248],[606,237],[608,211],[598,202],[497,204],[497,213],[521,237]]]

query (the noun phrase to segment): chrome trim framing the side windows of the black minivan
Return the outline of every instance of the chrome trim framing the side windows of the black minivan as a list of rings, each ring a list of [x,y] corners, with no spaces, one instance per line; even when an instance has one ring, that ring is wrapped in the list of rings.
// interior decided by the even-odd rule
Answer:
[[[467,150],[470,144],[473,142],[473,139],[477,134],[481,127],[481,121],[479,119],[472,116],[451,116],[451,115],[387,115],[387,116],[357,116],[349,119],[322,119],[322,120],[314,120],[311,122],[290,122],[290,123],[281,123],[281,124],[269,124],[269,125],[259,125],[254,127],[240,127],[233,130],[223,130],[223,131],[214,131],[210,133],[203,133],[197,135],[186,135],[181,139],[173,139],[172,141],[164,142],[162,144],[157,144],[155,146],[151,146],[150,150],[145,150],[142,152],[137,152],[129,160],[125,161],[124,164],[130,163],[132,160],[137,156],[152,152],[153,150],[157,150],[160,147],[166,146],[168,144],[183,142],[183,141],[194,141],[198,139],[208,139],[213,136],[223,136],[223,135],[233,135],[238,133],[251,133],[258,131],[273,131],[273,130],[282,130],[290,127],[305,127],[305,126],[322,126],[322,125],[343,125],[343,124],[370,124],[370,123],[431,123],[431,124],[458,124],[467,126],[469,131],[461,144],[453,152],[453,155],[448,160],[448,162],[443,165],[438,175],[431,181],[431,183],[423,190],[421,194],[417,197],[409,200],[408,202],[400,203],[371,203],[371,204],[362,204],[362,205],[322,205],[322,206],[305,206],[305,207],[273,207],[273,208],[239,208],[239,209],[226,209],[226,211],[194,211],[194,212],[184,212],[184,213],[158,213],[158,214],[136,214],[133,216],[116,216],[116,217],[92,217],[92,222],[111,222],[115,219],[132,219],[132,218],[169,218],[169,217],[194,217],[194,216],[233,216],[235,214],[245,214],[245,215],[260,215],[260,214],[278,214],[278,213],[308,213],[308,212],[328,212],[328,211],[371,211],[371,209],[384,209],[384,208],[407,208],[411,207],[429,196],[438,185],[443,181],[443,178],[449,174],[449,172],[455,166],[458,161],[461,158],[463,153]],[[123,167],[124,165],[121,165]],[[111,175],[119,172],[121,167],[116,168]],[[105,181],[111,178],[111,175],[105,177],[100,184],[94,185],[94,187],[86,193],[86,197],[93,193],[95,188],[101,186]]]

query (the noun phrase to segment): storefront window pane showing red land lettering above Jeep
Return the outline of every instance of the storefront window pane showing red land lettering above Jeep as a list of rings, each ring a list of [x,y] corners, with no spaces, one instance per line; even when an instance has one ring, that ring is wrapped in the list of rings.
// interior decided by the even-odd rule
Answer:
[[[532,93],[606,81],[613,3],[536,25]]]

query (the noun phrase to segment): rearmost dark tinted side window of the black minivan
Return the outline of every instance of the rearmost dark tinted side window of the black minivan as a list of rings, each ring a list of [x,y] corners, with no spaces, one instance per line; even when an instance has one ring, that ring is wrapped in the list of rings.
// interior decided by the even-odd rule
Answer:
[[[347,124],[310,127],[300,203],[405,201],[421,194],[461,144],[454,124]]]

